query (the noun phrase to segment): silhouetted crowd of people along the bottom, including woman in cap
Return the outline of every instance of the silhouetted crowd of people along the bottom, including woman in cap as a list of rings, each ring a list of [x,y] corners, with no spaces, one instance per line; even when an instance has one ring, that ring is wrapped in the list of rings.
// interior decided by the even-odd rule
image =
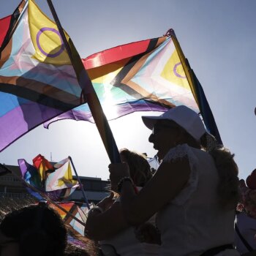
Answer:
[[[234,155],[185,106],[143,123],[160,162],[154,175],[143,154],[121,149],[84,236],[39,203],[2,214],[0,255],[256,255],[256,170],[239,181]]]

